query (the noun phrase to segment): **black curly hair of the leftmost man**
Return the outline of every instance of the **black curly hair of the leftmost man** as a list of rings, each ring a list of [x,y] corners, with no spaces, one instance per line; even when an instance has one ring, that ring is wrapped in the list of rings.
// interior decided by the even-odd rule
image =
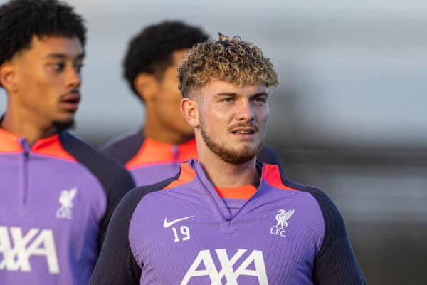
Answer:
[[[0,65],[30,48],[33,36],[77,37],[86,43],[82,16],[58,0],[11,0],[0,6]]]

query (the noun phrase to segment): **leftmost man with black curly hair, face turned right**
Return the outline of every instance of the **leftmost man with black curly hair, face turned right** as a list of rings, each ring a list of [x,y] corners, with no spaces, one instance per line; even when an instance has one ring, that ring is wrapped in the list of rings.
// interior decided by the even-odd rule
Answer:
[[[70,135],[86,28],[56,0],[0,6],[0,284],[88,284],[113,209],[135,184]]]

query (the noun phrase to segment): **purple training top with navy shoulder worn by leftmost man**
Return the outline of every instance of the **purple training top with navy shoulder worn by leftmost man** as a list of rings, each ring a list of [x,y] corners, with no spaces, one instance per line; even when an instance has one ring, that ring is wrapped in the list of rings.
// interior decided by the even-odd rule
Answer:
[[[30,147],[0,129],[0,284],[88,284],[112,211],[134,185],[68,133]]]

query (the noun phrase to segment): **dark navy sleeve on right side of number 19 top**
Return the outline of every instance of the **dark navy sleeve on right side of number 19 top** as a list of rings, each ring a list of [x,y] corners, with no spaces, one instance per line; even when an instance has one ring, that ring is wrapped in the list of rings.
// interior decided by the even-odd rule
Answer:
[[[317,285],[366,284],[347,237],[344,220],[332,200],[321,190],[312,195],[325,220],[325,235],[315,257],[313,281]]]

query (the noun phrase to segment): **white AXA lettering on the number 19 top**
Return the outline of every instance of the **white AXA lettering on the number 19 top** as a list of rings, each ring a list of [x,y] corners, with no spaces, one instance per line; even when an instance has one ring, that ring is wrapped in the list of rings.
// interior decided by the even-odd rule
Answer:
[[[209,250],[201,250],[186,272],[184,279],[181,281],[181,285],[186,285],[191,278],[199,276],[209,276],[211,285],[221,285],[221,279],[223,279],[224,276],[226,277],[227,285],[238,285],[237,279],[238,276],[241,275],[255,276],[258,278],[258,283],[260,285],[267,285],[267,271],[265,271],[263,252],[260,250],[253,250],[242,262],[241,266],[238,266],[236,271],[233,270],[233,265],[236,264],[247,251],[247,249],[238,249],[236,254],[234,254],[231,259],[228,259],[226,249],[216,249],[215,252],[222,267],[220,271],[217,271],[211,252]],[[204,264],[204,269],[197,270],[201,263]],[[248,266],[252,263],[255,265],[254,270],[248,269]]]

